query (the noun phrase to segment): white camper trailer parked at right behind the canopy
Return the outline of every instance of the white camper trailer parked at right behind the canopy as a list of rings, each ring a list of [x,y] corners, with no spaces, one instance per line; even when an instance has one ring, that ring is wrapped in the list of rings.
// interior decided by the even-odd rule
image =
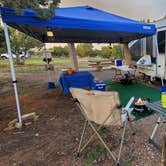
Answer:
[[[131,56],[140,73],[166,79],[166,19],[154,22],[157,34],[129,44]]]

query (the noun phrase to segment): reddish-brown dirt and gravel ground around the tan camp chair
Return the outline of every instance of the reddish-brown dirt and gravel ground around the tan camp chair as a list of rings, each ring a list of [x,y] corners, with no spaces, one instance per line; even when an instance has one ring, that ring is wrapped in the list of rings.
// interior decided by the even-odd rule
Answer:
[[[111,78],[111,71],[94,73],[96,78]],[[56,73],[56,79],[59,73]],[[37,121],[22,129],[3,132],[8,122],[17,117],[10,75],[0,90],[0,166],[114,166],[112,158],[95,138],[80,159],[75,156],[83,129],[84,118],[70,95],[60,88],[47,89],[46,73],[20,74],[18,78],[21,110],[36,112]],[[132,122],[127,127],[122,166],[159,166],[161,153],[148,143],[158,115]],[[110,127],[102,136],[118,153],[120,131]],[[156,141],[162,143],[164,127],[158,130]],[[89,129],[87,136],[92,132]]]

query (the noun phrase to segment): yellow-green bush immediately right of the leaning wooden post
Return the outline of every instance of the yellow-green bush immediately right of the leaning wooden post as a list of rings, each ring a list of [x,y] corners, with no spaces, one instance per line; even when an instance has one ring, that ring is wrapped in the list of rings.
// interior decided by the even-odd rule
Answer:
[[[87,57],[92,53],[93,45],[92,44],[78,44],[77,53],[80,57]]]

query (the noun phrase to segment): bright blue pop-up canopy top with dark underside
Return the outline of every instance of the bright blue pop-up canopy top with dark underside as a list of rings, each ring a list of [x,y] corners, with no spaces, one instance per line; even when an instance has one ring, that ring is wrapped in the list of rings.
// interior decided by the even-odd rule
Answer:
[[[153,24],[145,24],[90,7],[57,8],[50,20],[36,17],[32,9],[17,15],[14,9],[0,7],[3,22],[42,42],[127,43],[155,34]],[[54,33],[47,37],[47,31]]]

